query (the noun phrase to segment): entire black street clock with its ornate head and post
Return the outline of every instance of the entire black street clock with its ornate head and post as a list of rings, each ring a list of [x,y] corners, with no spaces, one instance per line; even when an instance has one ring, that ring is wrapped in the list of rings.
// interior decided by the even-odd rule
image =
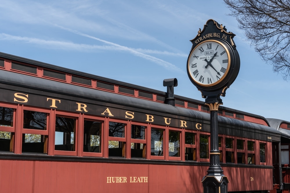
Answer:
[[[234,36],[222,24],[210,19],[191,40],[193,45],[187,59],[189,79],[205,98],[211,113],[210,166],[202,179],[204,193],[228,192],[229,181],[220,166],[218,107],[223,104],[220,96],[225,96],[240,70]]]

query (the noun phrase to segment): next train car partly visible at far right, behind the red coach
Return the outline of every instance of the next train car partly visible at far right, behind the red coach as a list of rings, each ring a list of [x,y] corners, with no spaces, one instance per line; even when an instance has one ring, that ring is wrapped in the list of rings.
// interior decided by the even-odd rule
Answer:
[[[289,147],[290,147],[290,122],[267,118],[271,127],[281,132],[281,144],[276,148],[279,149],[276,155],[273,154],[273,177],[276,183],[277,191],[289,193],[290,189],[290,163],[289,163]]]

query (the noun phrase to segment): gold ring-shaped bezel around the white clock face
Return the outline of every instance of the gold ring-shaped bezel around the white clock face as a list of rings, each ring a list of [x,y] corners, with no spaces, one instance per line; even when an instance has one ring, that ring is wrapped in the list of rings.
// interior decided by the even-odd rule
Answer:
[[[198,82],[197,80],[195,80],[195,78],[193,78],[192,73],[191,73],[191,71],[190,71],[190,66],[191,66],[191,64],[190,64],[189,62],[190,62],[191,55],[192,55],[192,53],[195,51],[195,49],[198,49],[198,46],[199,46],[199,45],[201,45],[201,44],[203,44],[203,43],[206,43],[206,42],[209,42],[209,41],[211,41],[211,42],[216,42],[216,43],[218,43],[219,45],[221,45],[221,46],[224,48],[224,50],[226,51],[226,54],[227,54],[227,56],[228,56],[228,65],[227,65],[227,68],[226,68],[226,72],[223,74],[223,76],[222,76],[218,81],[216,81],[216,82],[214,82],[214,83],[211,83],[211,84],[203,84],[203,83],[200,83],[200,82]],[[196,84],[198,84],[198,85],[200,85],[200,86],[202,86],[202,87],[212,87],[212,86],[215,86],[215,85],[219,84],[220,82],[222,82],[222,81],[224,80],[224,78],[227,76],[230,67],[231,67],[231,55],[230,55],[229,48],[226,47],[226,45],[225,45],[223,42],[218,41],[218,40],[214,40],[214,39],[205,40],[205,41],[202,41],[202,42],[200,42],[199,44],[197,44],[197,45],[196,45],[196,46],[191,50],[191,52],[190,52],[190,54],[189,54],[188,61],[187,61],[187,71],[189,72],[189,75],[190,75],[191,80],[193,80]]]

